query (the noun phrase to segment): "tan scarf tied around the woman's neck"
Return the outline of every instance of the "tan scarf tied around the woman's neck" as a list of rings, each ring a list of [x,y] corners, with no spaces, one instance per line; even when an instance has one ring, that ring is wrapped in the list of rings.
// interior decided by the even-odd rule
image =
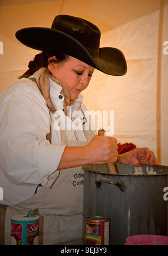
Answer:
[[[73,104],[74,100],[71,100],[71,95],[68,92],[68,90],[62,86],[61,82],[57,78],[55,78],[54,76],[52,76],[50,74],[48,68],[41,67],[38,70],[38,74],[36,77],[36,83],[38,84],[38,87],[39,87],[44,99],[46,100],[46,104],[52,113],[54,113],[56,111],[54,104],[52,102],[52,99],[50,97],[49,78],[52,79],[55,83],[57,83],[59,86],[62,87],[62,90],[60,93],[64,97],[63,108],[64,108],[65,115],[67,115],[67,106],[71,106]]]

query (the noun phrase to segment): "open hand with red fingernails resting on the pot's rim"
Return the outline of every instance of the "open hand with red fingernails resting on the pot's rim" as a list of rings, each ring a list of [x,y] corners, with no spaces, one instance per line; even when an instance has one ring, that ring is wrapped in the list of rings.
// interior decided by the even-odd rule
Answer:
[[[142,166],[147,164],[152,166],[158,164],[155,154],[148,148],[135,148],[129,152],[119,155],[118,162],[124,164],[134,164],[134,166]]]

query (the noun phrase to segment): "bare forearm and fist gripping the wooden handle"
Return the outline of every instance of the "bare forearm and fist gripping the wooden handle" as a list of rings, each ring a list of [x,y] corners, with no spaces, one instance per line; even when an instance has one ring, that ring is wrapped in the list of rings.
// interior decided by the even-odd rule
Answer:
[[[117,140],[108,136],[95,135],[84,147],[66,147],[57,170],[116,162],[118,156]]]

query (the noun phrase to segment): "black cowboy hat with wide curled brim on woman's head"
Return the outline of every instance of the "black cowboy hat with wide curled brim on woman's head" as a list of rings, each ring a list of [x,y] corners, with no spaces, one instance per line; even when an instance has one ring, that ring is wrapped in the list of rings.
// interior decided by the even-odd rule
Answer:
[[[27,47],[68,54],[105,74],[121,76],[127,72],[123,53],[116,48],[100,46],[100,30],[91,22],[69,15],[55,17],[52,28],[25,28],[16,38]]]

